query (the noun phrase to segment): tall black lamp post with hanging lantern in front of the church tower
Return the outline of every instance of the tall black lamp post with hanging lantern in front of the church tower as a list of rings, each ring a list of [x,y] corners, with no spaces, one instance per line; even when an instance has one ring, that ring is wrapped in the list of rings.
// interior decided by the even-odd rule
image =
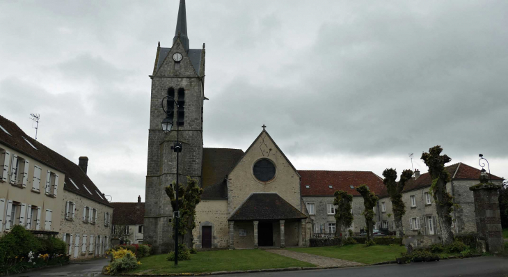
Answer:
[[[164,111],[164,113],[166,113],[166,118],[164,118],[164,120],[162,120],[161,125],[162,125],[162,130],[167,133],[167,132],[170,132],[171,129],[173,128],[173,114],[171,113],[172,111],[168,111],[168,110],[164,109],[164,100],[166,100],[168,102],[167,104],[169,104],[170,101],[175,102],[177,110],[178,110],[178,103],[175,101],[175,98],[170,97],[169,95],[162,98],[161,105],[162,105],[162,110]],[[180,152],[182,152],[182,143],[180,143],[180,138],[178,136],[178,131],[180,130],[180,128],[178,126],[178,122],[177,122],[176,126],[177,126],[176,127],[176,142],[173,144],[171,149],[173,149],[173,151],[176,152],[176,189],[175,189],[176,190],[176,205],[175,205],[176,207],[175,207],[175,211],[173,211],[173,217],[175,218],[175,265],[178,265],[178,227],[179,227],[178,221],[180,219],[180,210],[178,209],[178,191],[179,191],[178,154],[180,154]]]

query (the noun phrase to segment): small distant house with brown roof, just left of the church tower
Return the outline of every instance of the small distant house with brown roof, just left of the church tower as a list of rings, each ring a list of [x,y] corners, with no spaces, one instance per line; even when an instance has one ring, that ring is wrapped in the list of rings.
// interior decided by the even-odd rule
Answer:
[[[111,244],[142,244],[145,203],[113,202],[113,221],[111,227]]]

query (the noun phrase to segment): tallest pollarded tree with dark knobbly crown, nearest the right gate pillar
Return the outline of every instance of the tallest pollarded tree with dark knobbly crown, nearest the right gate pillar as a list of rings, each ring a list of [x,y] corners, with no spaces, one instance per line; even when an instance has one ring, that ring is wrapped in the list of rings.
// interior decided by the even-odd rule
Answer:
[[[453,197],[446,191],[446,183],[450,182],[450,174],[445,170],[445,164],[452,159],[447,155],[440,155],[441,152],[443,152],[443,148],[436,145],[430,148],[428,153],[422,154],[422,160],[429,168],[432,178],[430,190],[436,200],[441,239],[443,239],[443,244],[451,244],[453,242],[451,214],[454,203]]]

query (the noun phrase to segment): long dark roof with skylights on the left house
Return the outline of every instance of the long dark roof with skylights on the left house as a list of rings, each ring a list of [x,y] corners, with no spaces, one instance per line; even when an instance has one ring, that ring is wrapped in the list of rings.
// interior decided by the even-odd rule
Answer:
[[[0,116],[0,126],[6,129],[6,131],[10,134],[8,135],[0,129],[0,143],[8,145],[10,148],[17,150],[24,155],[28,155],[42,164],[65,173],[65,184],[63,189],[72,191],[73,193],[79,194],[80,196],[84,196],[85,198],[94,200],[109,207],[113,207],[111,203],[102,196],[102,192],[95,186],[92,180],[90,180],[90,177],[88,177],[77,164],[74,164],[72,161],[57,152],[47,148],[42,143],[35,141],[35,139],[32,139],[30,136],[25,134],[15,122],[10,121],[3,116]],[[28,141],[30,141],[37,150],[32,148],[29,143],[26,143],[22,137],[25,137]],[[72,178],[79,189],[74,187],[69,178]],[[90,190],[91,194],[83,187],[84,185],[88,190]],[[98,193],[101,194],[102,198]]]

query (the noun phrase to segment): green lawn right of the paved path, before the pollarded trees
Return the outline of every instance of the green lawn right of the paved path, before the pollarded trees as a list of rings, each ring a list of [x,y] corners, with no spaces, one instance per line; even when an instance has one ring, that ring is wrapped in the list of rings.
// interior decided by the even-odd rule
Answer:
[[[308,248],[287,248],[287,250],[320,255],[330,258],[375,264],[386,262],[400,257],[406,252],[405,246],[374,245],[366,247],[364,244],[351,244],[346,246],[324,246]]]

